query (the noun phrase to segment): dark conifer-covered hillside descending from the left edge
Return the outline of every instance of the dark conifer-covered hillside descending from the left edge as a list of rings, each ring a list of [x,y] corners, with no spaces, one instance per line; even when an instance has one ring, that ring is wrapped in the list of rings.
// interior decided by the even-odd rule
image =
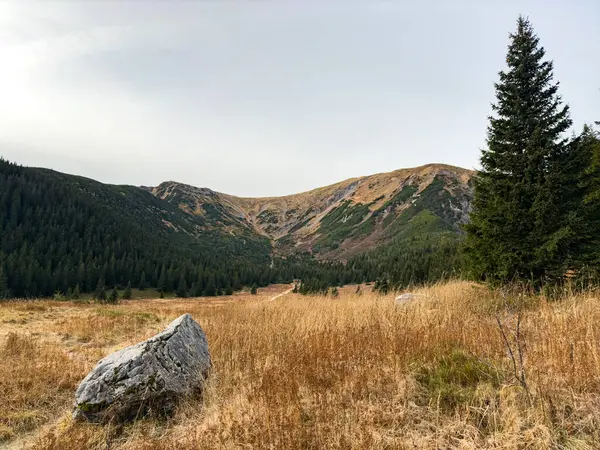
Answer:
[[[49,296],[131,282],[211,295],[271,281],[266,239],[201,225],[136,187],[0,160],[0,293]]]

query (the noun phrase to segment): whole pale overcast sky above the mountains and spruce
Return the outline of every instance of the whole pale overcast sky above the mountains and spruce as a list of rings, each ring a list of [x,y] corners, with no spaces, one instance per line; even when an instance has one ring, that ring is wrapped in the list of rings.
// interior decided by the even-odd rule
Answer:
[[[600,120],[598,0],[3,1],[0,156],[241,196],[477,168],[519,14]]]

